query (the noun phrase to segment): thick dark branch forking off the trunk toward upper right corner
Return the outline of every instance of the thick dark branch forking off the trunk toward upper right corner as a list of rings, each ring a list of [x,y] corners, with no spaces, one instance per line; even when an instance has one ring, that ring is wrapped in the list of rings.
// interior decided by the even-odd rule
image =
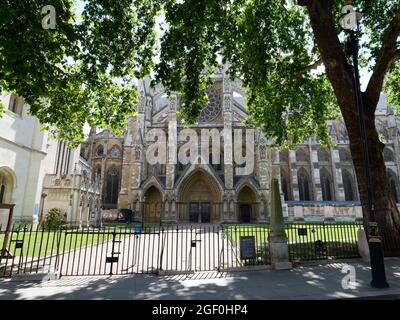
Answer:
[[[400,5],[398,5],[392,21],[383,35],[382,47],[376,59],[371,79],[365,90],[365,97],[370,105],[376,106],[382,90],[383,81],[389,67],[400,58],[397,49],[397,38],[400,34]]]

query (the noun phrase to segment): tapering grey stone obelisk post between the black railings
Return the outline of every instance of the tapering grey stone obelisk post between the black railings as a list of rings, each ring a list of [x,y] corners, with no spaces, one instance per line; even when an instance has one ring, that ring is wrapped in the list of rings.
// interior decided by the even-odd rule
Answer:
[[[272,267],[276,270],[292,268],[292,263],[289,261],[287,242],[279,182],[278,179],[273,178],[271,181],[270,250]]]

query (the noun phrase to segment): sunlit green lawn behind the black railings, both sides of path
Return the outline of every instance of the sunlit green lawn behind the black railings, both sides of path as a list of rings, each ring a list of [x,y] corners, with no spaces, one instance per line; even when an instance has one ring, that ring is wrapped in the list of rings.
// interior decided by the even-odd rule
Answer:
[[[115,228],[117,231],[130,232],[135,226],[141,226],[140,223],[107,223],[103,225],[107,230]],[[165,225],[167,226],[167,225]],[[145,228],[156,228],[159,224],[145,224]],[[298,229],[305,229],[307,235],[299,234]],[[286,235],[289,241],[289,252],[293,257],[317,257],[319,254],[315,251],[314,242],[322,240],[326,243],[327,253],[338,255],[341,252],[353,252],[354,245],[357,240],[357,230],[362,228],[358,224],[329,224],[323,225],[318,223],[313,224],[286,224]],[[257,250],[268,250],[268,234],[270,226],[268,224],[261,225],[224,225],[226,235],[232,241],[232,244],[239,247],[241,236],[254,236],[257,244]],[[102,229],[100,229],[101,232]],[[44,257],[57,254],[60,252],[68,252],[92,244],[104,243],[112,240],[111,234],[99,233],[99,230],[88,230],[87,232],[77,233],[73,230],[59,231],[43,231],[12,233],[12,241],[8,249],[12,254],[28,257]],[[15,240],[23,240],[23,248],[16,248]],[[0,245],[3,244],[4,234],[0,234]],[[58,246],[59,244],[59,246]],[[261,249],[259,249],[261,248]],[[264,255],[260,251],[260,255]],[[346,253],[347,254],[347,253]],[[323,253],[325,255],[325,253]],[[318,258],[318,257],[317,257]]]

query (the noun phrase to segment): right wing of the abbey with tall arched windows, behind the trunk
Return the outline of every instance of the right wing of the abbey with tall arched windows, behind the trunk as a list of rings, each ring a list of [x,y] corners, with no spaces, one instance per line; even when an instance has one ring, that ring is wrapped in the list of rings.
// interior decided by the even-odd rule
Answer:
[[[382,94],[376,111],[376,126],[386,146],[383,156],[396,202],[399,194],[400,119],[386,105]],[[329,123],[334,147],[324,148],[316,137],[294,150],[280,151],[281,189],[289,216],[296,220],[361,218],[347,131],[342,120]]]

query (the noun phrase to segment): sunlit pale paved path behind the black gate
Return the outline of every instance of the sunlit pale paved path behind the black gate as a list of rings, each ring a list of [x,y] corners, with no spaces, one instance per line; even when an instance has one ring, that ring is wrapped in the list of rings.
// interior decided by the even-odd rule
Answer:
[[[57,265],[62,275],[108,275],[111,264],[106,263],[106,257],[112,256],[113,245],[112,241],[105,241],[104,236],[99,237],[98,244],[60,252],[57,259],[56,255],[40,260],[23,257],[19,265],[17,256],[11,261],[3,259],[2,265],[7,263],[7,274],[11,273],[13,264],[12,274],[24,270],[42,272]],[[107,239],[111,239],[111,235],[107,235]],[[119,261],[112,266],[114,274],[156,273],[160,268],[167,272],[216,271],[241,266],[237,248],[219,226],[179,226],[163,232],[151,229],[138,234],[117,234],[116,240],[114,252]]]

